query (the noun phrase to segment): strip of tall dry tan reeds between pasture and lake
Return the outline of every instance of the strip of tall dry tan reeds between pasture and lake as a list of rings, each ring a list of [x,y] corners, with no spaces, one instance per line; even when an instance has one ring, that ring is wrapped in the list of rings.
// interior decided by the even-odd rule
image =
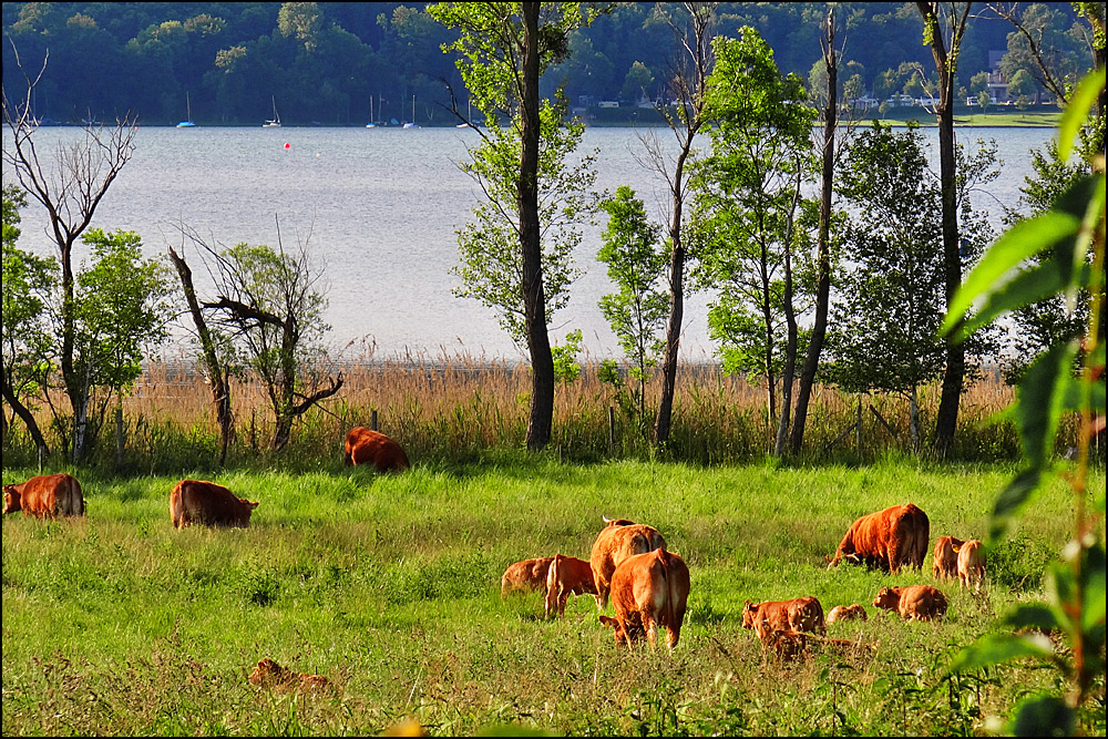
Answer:
[[[637,430],[636,420],[620,410],[617,389],[598,379],[598,365],[586,360],[579,378],[558,384],[555,392],[551,448],[562,459],[596,461],[654,454],[710,464],[759,459],[772,448],[776,425],[768,418],[763,384],[725,376],[709,363],[683,365],[671,437],[665,449],[655,450]],[[301,417],[293,441],[280,454],[269,451],[274,424],[264,387],[257,381],[233,380],[235,438],[228,464],[248,465],[258,460],[329,464],[341,459],[346,432],[355,425],[370,425],[375,412],[378,429],[397,439],[413,460],[466,462],[524,447],[531,393],[531,370],[525,365],[445,351],[380,358],[368,349],[340,369],[342,390]],[[660,377],[656,376],[647,386],[648,413],[657,408],[660,389]],[[937,386],[929,386],[920,394],[924,447],[933,430],[938,392]],[[1018,440],[1012,423],[995,420],[1012,399],[1013,389],[997,374],[970,386],[958,419],[957,458],[1017,458]],[[860,404],[861,444],[855,430],[848,432]],[[609,408],[614,424],[609,423]],[[45,410],[40,411],[39,420],[43,429],[50,428]],[[195,360],[185,355],[145,368],[123,399],[123,421],[126,466],[147,472],[196,469],[218,458],[219,430],[211,386]],[[1067,440],[1074,438],[1073,429],[1064,429],[1058,451],[1064,452],[1073,443]],[[57,438],[48,441],[54,448],[63,447]],[[18,422],[10,427],[4,445],[6,455],[10,451],[17,464],[21,455],[30,459],[32,453]],[[902,397],[815,388],[806,425],[807,459],[863,461],[915,451],[909,434],[907,402]],[[114,417],[109,412],[93,459],[114,465],[115,456]]]

